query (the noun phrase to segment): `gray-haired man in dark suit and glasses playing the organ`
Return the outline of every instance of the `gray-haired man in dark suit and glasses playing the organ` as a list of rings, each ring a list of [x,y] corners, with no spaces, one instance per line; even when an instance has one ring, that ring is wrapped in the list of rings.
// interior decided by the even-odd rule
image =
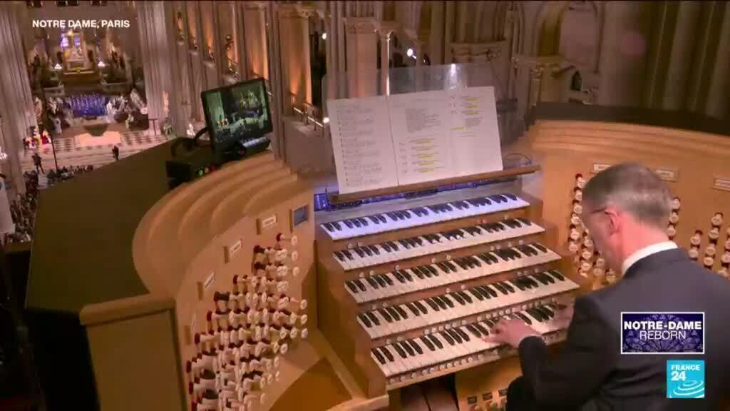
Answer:
[[[518,348],[523,373],[508,390],[508,411],[727,410],[730,282],[669,241],[671,201],[666,184],[642,165],[615,165],[588,181],[581,219],[608,268],[623,278],[575,300],[555,356],[521,320],[496,325],[489,338]],[[704,355],[622,355],[622,311],[704,312]],[[672,359],[704,360],[704,399],[666,398]]]

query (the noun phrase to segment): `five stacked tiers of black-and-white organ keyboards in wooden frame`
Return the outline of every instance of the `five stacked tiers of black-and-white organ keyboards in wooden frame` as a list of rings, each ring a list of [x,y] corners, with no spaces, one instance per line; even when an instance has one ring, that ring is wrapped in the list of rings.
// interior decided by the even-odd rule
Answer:
[[[369,396],[510,355],[500,317],[548,342],[579,284],[519,178],[316,214],[320,329]]]

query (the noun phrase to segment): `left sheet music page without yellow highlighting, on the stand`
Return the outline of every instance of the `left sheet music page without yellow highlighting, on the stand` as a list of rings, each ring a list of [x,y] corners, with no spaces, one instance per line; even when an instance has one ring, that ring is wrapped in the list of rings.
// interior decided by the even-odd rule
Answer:
[[[327,102],[339,193],[397,186],[385,96]]]

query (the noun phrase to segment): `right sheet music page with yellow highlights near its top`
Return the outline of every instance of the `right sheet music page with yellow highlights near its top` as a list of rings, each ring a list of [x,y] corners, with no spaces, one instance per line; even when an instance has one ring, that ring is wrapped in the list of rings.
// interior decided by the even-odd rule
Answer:
[[[448,92],[447,99],[452,176],[503,170],[494,88],[453,90]]]

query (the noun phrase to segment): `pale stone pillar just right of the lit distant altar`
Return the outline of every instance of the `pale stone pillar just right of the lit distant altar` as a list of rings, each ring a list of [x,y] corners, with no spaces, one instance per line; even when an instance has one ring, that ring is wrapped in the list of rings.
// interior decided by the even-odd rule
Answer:
[[[183,84],[177,64],[173,4],[141,2],[137,13],[149,116],[158,119],[156,127],[169,116],[174,131],[183,135],[187,124],[180,93]]]

